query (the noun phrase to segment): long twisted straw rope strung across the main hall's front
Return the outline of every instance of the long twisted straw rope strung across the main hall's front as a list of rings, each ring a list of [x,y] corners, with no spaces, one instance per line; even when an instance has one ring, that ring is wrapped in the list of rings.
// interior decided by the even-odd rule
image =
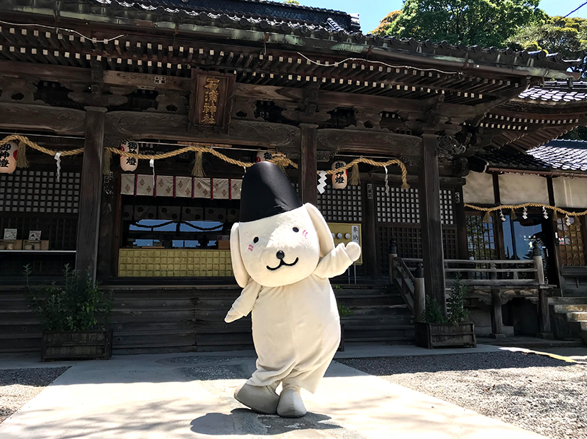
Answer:
[[[37,151],[43,152],[44,154],[48,154],[51,156],[55,156],[55,154],[58,153],[58,151],[54,151],[53,149],[41,147],[38,144],[36,144],[35,142],[33,142],[32,140],[28,139],[25,136],[21,136],[20,134],[11,134],[7,137],[4,137],[4,139],[2,139],[0,141],[0,143],[10,142],[11,140],[18,140],[18,142],[26,144],[28,147],[31,147],[33,149],[36,149]],[[237,160],[237,159],[232,159],[231,157],[228,157],[228,156],[222,154],[221,152],[217,151],[216,149],[213,149],[211,147],[202,147],[197,144],[189,144],[185,147],[182,147],[179,149],[174,149],[174,151],[162,152],[160,154],[134,154],[132,152],[122,151],[122,150],[120,150],[118,148],[114,148],[114,147],[106,147],[105,148],[105,153],[106,153],[107,158],[109,158],[110,154],[118,154],[123,157],[134,157],[135,159],[142,159],[142,160],[167,159],[169,157],[174,157],[176,155],[183,154],[184,152],[189,152],[189,151],[193,151],[196,153],[206,152],[208,154],[212,154],[213,156],[218,157],[218,159],[221,159],[226,163],[234,164],[236,166],[240,166],[240,167],[244,167],[244,168],[248,168],[250,166],[253,166],[253,164],[254,164],[254,163],[250,163],[250,162],[241,162],[240,160]],[[69,151],[61,151],[60,153],[61,153],[61,157],[66,157],[66,156],[73,156],[76,154],[81,154],[82,152],[83,152],[83,148],[78,148],[78,149],[70,149]],[[109,162],[110,162],[110,160],[109,160]],[[277,166],[280,166],[280,167],[292,166],[295,169],[297,169],[297,167],[298,167],[298,165],[295,162],[292,162],[290,159],[285,157],[284,154],[280,154],[280,153],[273,154],[273,159],[268,160],[268,162],[272,162],[274,164],[277,164]],[[391,165],[395,164],[395,165],[399,166],[399,168],[401,169],[401,182],[402,182],[401,189],[409,189],[410,188],[410,185],[408,184],[408,171],[406,170],[406,166],[399,159],[390,159],[386,162],[376,162],[375,160],[366,159],[365,157],[359,157],[359,159],[354,159],[352,162],[350,162],[346,166],[342,166],[338,169],[329,169],[328,171],[325,171],[325,172],[328,175],[336,174],[337,172],[340,172],[340,171],[346,171],[347,169],[350,169],[351,167],[356,166],[359,163],[366,163],[366,164],[370,164],[371,166],[376,166],[376,167],[387,167],[387,166],[391,166]],[[197,167],[198,166],[196,164],[196,168]],[[199,169],[196,171],[196,173],[199,174]],[[319,174],[319,173],[320,173],[320,171],[317,171],[317,174]]]

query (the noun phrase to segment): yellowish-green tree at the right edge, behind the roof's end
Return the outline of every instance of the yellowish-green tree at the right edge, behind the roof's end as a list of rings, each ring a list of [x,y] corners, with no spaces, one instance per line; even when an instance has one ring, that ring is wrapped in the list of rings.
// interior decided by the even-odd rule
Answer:
[[[587,78],[587,18],[547,17],[544,23],[531,23],[517,31],[509,46],[527,51],[560,53],[565,60],[581,58],[581,64],[572,67]]]

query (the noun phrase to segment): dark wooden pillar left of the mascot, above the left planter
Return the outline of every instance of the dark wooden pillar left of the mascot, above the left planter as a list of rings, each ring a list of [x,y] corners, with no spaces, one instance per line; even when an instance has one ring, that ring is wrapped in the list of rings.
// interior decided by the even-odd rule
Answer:
[[[102,107],[85,107],[85,110],[85,142],[75,268],[82,273],[88,270],[95,280],[104,164],[104,120],[107,110]]]

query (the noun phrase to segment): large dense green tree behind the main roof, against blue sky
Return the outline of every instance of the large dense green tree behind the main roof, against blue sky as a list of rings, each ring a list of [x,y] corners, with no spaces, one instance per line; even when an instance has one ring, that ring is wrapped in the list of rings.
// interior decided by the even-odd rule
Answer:
[[[504,46],[520,27],[544,21],[540,0],[406,0],[387,34],[398,38]]]

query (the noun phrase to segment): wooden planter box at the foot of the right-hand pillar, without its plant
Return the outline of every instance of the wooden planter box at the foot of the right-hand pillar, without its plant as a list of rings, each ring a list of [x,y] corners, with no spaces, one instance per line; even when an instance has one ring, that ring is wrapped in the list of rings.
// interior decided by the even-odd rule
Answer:
[[[416,322],[416,346],[477,347],[474,323],[422,323]]]

